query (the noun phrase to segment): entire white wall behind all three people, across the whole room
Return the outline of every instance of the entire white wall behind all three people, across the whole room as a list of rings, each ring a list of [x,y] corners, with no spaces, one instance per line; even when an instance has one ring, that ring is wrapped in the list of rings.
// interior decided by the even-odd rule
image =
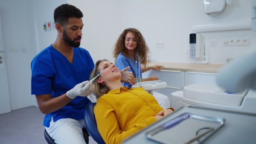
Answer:
[[[112,58],[117,37],[126,28],[142,32],[151,50],[152,61],[200,63],[186,57],[192,26],[250,22],[251,0],[232,0],[232,5],[217,17],[202,10],[203,0],[0,0],[6,68],[11,109],[37,104],[31,95],[30,63],[42,49],[52,44],[57,31],[44,32],[43,23],[53,20],[54,9],[70,3],[84,14],[81,47],[94,62]],[[209,63],[226,63],[227,58],[255,49],[256,34],[250,29],[201,32],[209,53]],[[222,46],[222,38],[250,37],[249,46]],[[217,46],[209,46],[217,39]],[[165,48],[156,48],[164,41]],[[10,52],[11,47],[26,47],[26,52]]]

